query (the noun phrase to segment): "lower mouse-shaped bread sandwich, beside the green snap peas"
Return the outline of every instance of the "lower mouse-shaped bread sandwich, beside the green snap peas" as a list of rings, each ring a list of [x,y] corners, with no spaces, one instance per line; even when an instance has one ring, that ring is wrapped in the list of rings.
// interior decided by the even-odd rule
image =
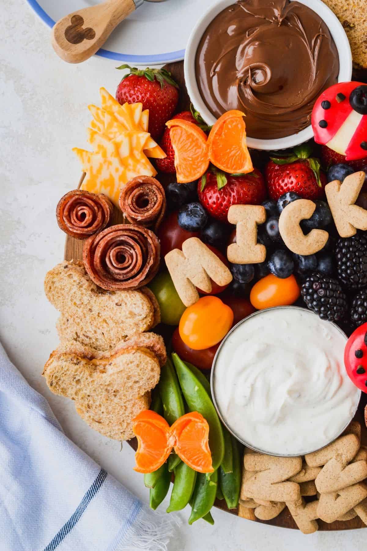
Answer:
[[[149,408],[150,390],[165,361],[163,339],[154,333],[118,343],[109,353],[71,341],[52,352],[43,375],[52,392],[75,401],[92,428],[128,440],[134,417]]]

